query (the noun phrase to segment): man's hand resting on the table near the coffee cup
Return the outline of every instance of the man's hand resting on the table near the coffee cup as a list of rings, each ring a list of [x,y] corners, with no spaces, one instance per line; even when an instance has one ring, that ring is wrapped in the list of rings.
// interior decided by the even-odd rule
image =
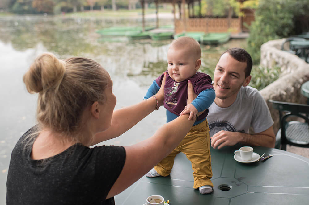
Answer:
[[[239,136],[238,132],[229,132],[225,130],[221,130],[217,133],[215,133],[211,139],[211,146],[216,149],[220,149],[226,145],[235,145],[237,144],[241,137]]]

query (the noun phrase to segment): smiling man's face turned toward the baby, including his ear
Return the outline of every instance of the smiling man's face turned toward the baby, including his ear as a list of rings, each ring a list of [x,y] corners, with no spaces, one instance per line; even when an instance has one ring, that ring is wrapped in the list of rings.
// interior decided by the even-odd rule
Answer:
[[[221,56],[214,71],[216,98],[236,99],[241,86],[247,86],[251,80],[251,76],[245,77],[246,67],[246,62],[237,61],[229,53]]]

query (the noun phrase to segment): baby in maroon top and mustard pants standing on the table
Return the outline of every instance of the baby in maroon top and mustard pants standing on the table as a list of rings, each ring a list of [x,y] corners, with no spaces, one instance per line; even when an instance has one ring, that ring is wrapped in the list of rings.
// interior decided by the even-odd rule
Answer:
[[[164,85],[167,122],[174,120],[182,113],[197,115],[207,109],[214,101],[215,92],[211,85],[211,77],[205,73],[197,72],[201,66],[201,48],[199,43],[191,37],[180,37],[174,40],[167,51],[167,74]],[[155,95],[161,86],[163,75],[150,85],[144,99]],[[188,80],[198,95],[192,103],[187,105]],[[210,136],[206,120],[208,109],[197,117],[196,122],[181,141],[181,143],[159,164],[151,169],[146,176],[168,176],[171,173],[176,154],[183,152],[192,163],[194,185],[201,194],[209,194],[214,187],[210,157]],[[179,125],[181,126],[181,125]]]

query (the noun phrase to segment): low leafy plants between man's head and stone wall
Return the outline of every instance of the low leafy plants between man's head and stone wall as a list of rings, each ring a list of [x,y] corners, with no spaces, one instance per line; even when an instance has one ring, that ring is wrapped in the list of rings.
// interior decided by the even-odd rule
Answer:
[[[279,78],[279,74],[280,67],[264,68],[262,66],[254,65],[251,71],[251,75],[254,77],[252,77],[249,85],[253,88],[261,90],[273,81],[277,80]]]

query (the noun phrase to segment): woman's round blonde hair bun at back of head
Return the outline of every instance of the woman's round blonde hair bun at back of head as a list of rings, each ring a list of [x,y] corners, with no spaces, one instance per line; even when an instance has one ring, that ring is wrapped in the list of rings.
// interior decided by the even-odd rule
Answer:
[[[57,59],[52,53],[44,53],[35,59],[24,74],[23,81],[30,93],[50,88],[57,91],[65,72],[66,63],[63,60]]]

